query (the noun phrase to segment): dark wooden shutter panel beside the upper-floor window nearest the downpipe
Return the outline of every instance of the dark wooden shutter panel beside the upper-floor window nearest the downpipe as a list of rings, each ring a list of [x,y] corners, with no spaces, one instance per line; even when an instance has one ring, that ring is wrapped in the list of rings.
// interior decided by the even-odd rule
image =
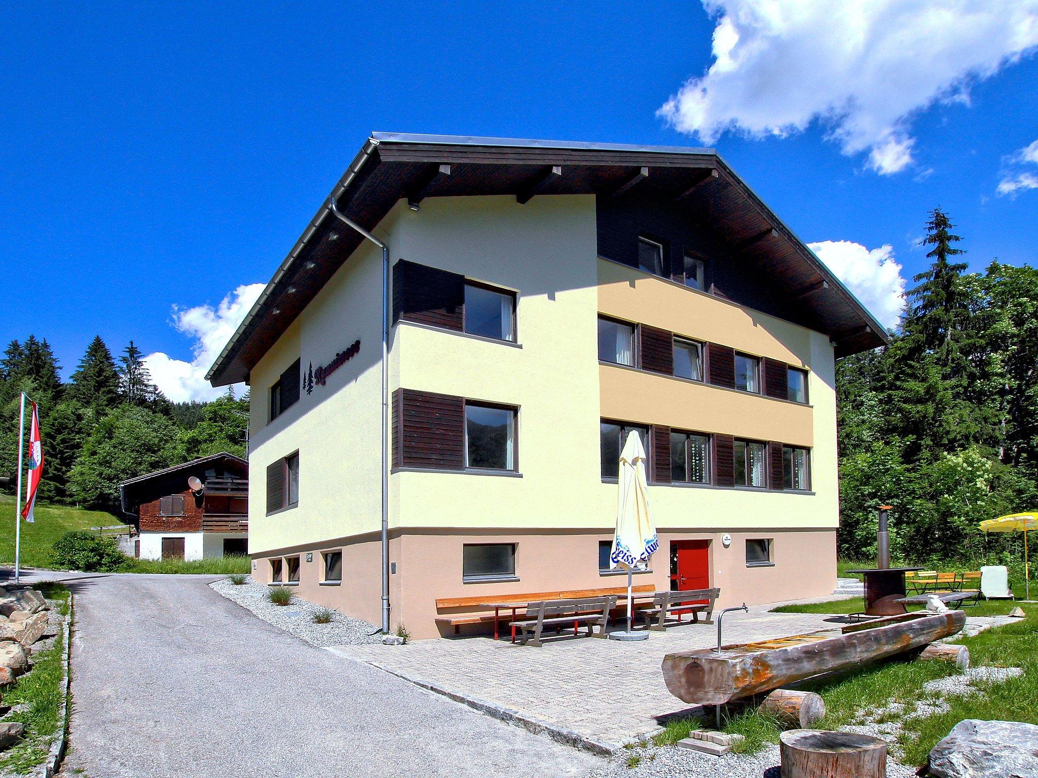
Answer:
[[[400,319],[462,329],[465,277],[401,259],[393,267],[393,324]]]

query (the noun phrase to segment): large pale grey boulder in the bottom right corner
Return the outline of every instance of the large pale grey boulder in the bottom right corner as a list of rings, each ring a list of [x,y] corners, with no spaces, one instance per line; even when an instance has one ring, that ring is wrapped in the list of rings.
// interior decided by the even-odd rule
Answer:
[[[930,751],[937,778],[1038,776],[1038,726],[1018,721],[966,719]]]

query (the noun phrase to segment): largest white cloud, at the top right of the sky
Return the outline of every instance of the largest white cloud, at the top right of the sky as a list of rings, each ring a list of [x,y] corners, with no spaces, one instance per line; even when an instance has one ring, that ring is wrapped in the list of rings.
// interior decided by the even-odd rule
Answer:
[[[818,121],[844,154],[891,174],[912,164],[913,115],[968,104],[974,83],[1038,46],[1038,0],[703,0],[714,61],[659,110],[713,143]],[[1038,150],[1036,150],[1038,154]]]

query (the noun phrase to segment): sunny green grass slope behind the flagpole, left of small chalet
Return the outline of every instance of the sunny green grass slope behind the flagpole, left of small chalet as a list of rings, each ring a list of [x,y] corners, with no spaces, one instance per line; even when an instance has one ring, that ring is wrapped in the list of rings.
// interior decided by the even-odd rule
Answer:
[[[51,546],[65,532],[89,527],[125,524],[104,510],[84,510],[70,505],[36,504],[35,523],[22,522],[22,565],[51,567]],[[0,495],[0,563],[15,563],[15,498]]]

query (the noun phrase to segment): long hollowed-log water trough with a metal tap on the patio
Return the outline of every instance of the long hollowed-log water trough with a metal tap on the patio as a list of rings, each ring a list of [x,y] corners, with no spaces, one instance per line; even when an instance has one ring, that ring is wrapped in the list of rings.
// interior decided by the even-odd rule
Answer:
[[[923,648],[962,630],[962,611],[906,613],[807,635],[667,654],[671,694],[699,705],[722,705],[815,675]]]

